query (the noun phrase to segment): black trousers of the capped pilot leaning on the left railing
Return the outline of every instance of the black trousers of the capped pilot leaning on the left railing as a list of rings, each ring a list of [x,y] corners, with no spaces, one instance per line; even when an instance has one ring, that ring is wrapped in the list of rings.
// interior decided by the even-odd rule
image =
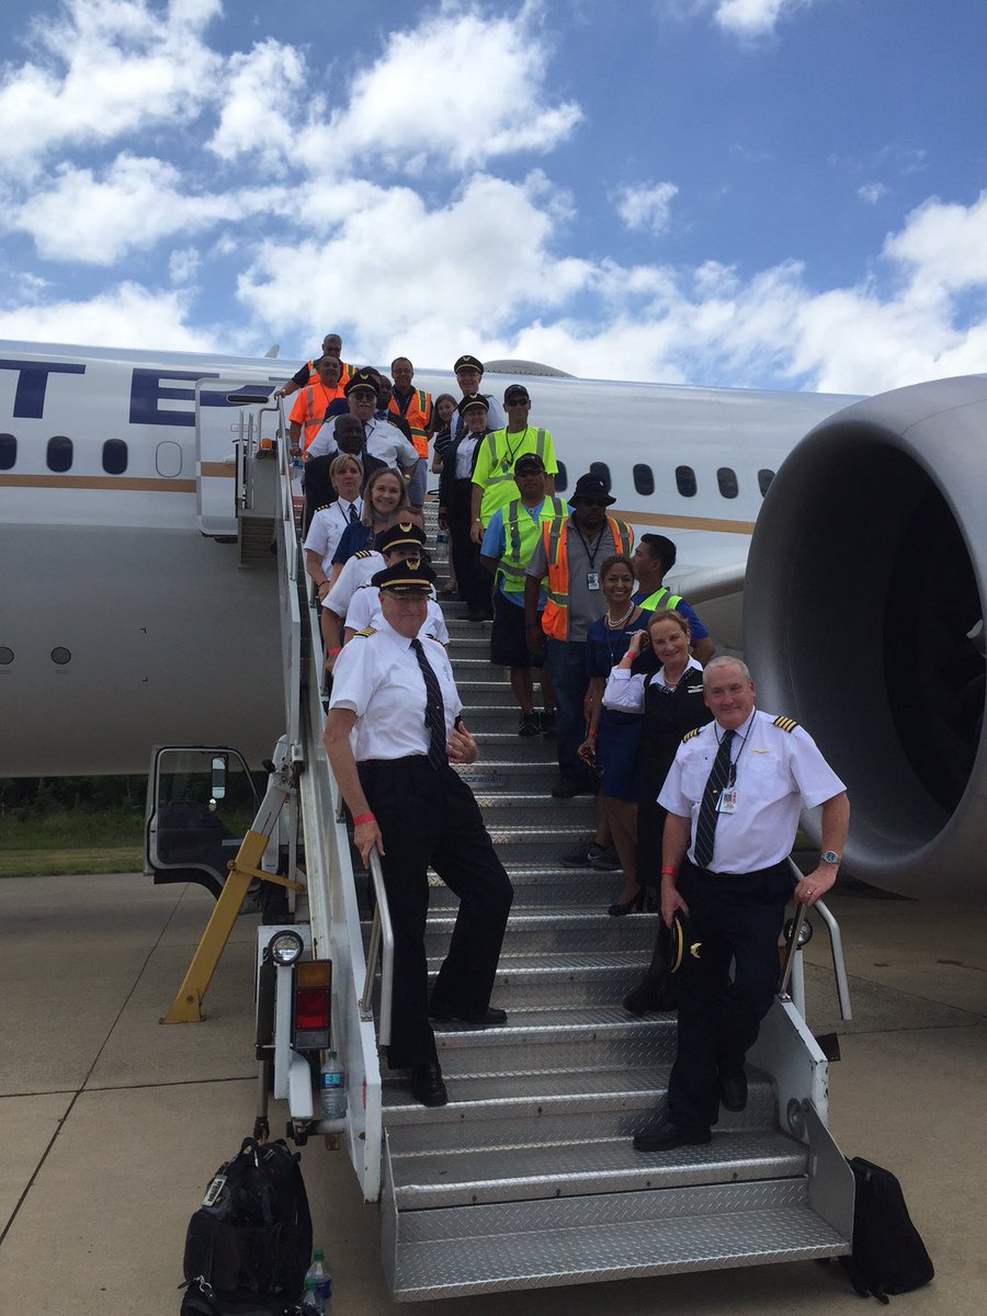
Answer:
[[[380,867],[393,924],[387,1061],[391,1069],[411,1069],[436,1059],[425,953],[429,865],[459,898],[449,954],[432,990],[442,1011],[480,1015],[490,1004],[515,892],[472,791],[451,767],[436,771],[424,755],[357,766],[384,842]]]

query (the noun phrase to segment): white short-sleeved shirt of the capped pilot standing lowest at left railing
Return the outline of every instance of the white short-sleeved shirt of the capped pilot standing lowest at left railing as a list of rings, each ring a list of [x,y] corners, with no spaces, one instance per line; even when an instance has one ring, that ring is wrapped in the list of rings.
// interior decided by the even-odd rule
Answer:
[[[442,645],[425,637],[421,644],[442,691],[449,738],[463,707],[453,669]],[[354,636],[336,659],[329,708],[349,708],[357,715],[350,744],[358,763],[429,751],[425,678],[411,640],[386,621],[372,636]]]

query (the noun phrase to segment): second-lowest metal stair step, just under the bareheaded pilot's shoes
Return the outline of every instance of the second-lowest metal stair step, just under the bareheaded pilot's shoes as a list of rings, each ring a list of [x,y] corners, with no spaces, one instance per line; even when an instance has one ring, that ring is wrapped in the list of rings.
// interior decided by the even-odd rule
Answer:
[[[807,1149],[784,1133],[713,1133],[705,1146],[642,1154],[629,1137],[592,1145],[488,1148],[463,1153],[395,1157],[390,1173],[399,1212],[572,1198],[633,1188],[692,1187],[745,1179],[784,1179],[805,1173]]]

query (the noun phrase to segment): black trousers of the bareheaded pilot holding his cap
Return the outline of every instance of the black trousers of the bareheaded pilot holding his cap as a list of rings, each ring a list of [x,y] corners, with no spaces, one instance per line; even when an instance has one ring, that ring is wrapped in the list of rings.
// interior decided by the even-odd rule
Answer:
[[[669,1117],[680,1129],[696,1132],[716,1124],[717,1074],[740,1073],[771,1008],[792,879],[787,861],[734,875],[708,873],[686,859],[679,892],[690,909],[690,940],[701,946],[699,959],[688,962],[679,996]]]

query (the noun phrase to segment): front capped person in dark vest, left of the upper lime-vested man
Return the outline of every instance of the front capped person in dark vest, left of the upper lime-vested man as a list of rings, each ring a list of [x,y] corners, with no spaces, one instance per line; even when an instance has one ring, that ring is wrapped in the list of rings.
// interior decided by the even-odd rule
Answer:
[[[438,480],[438,524],[449,529],[449,547],[459,597],[467,604],[470,621],[492,617],[490,576],[480,566],[479,544],[470,536],[472,472],[480,445],[488,433],[490,405],[483,393],[467,395],[457,411],[463,429],[446,449]]]

